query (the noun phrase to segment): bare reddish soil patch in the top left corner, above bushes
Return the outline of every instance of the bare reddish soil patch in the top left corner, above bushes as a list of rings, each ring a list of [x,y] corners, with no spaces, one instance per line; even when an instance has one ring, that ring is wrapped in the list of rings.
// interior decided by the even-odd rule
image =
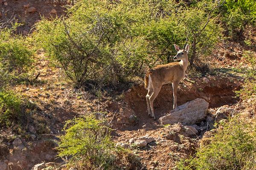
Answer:
[[[42,17],[59,17],[65,14],[65,5],[67,5],[65,0],[0,0],[1,20],[15,17],[17,22],[22,24],[17,28],[17,33],[24,34],[23,31],[29,33],[33,25]],[[28,12],[29,7],[35,7],[36,11]],[[50,14],[52,9],[55,9],[57,13]]]

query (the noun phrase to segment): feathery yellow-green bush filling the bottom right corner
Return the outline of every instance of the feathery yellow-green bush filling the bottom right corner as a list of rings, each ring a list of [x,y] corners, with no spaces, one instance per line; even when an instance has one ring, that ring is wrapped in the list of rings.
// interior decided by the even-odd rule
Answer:
[[[177,164],[178,170],[253,170],[256,167],[256,123],[230,119],[217,129],[210,144]]]

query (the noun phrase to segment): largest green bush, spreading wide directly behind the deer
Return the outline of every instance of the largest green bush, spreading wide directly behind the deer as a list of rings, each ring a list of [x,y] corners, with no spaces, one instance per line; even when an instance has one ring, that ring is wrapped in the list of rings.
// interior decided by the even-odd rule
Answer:
[[[173,44],[184,44],[188,32],[193,41],[200,30],[190,28],[206,23],[207,15],[191,8],[172,0],[81,0],[67,17],[39,22],[34,37],[75,83],[116,84],[172,62]],[[196,36],[195,55],[206,57],[219,37],[215,20]]]

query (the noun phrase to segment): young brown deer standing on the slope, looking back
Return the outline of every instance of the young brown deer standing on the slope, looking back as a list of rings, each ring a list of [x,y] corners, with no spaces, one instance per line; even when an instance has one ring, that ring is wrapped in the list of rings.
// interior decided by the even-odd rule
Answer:
[[[155,68],[150,69],[145,77],[145,88],[148,90],[146,95],[148,105],[148,115],[156,119],[154,115],[154,99],[157,97],[161,90],[162,85],[172,82],[173,88],[173,109],[177,108],[177,91],[180,81],[185,77],[185,71],[188,67],[188,52],[189,45],[186,45],[185,50],[174,44],[177,55],[173,59],[180,60],[180,62],[171,62],[166,65],[157,65]]]

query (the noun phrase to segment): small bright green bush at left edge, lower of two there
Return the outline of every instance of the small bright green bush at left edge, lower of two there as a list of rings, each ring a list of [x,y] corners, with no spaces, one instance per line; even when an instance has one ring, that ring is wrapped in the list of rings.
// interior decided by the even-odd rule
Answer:
[[[21,117],[21,100],[12,91],[0,91],[0,127],[19,122]]]

